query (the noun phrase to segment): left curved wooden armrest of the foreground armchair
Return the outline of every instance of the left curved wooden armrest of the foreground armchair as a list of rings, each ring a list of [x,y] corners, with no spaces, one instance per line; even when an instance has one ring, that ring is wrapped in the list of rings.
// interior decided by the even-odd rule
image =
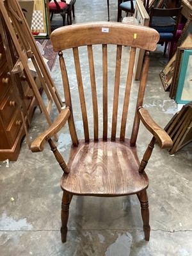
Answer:
[[[40,152],[44,150],[44,145],[49,138],[54,136],[57,132],[61,130],[61,128],[67,122],[68,116],[70,116],[70,109],[67,107],[62,109],[60,115],[55,120],[55,122],[42,134],[40,134],[33,143],[31,143],[31,151],[32,152]]]

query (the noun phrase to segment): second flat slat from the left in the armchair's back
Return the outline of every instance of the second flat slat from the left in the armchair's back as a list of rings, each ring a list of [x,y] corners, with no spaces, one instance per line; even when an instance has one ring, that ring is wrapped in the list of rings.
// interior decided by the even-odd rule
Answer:
[[[89,60],[89,66],[90,66],[90,79],[91,79],[91,86],[92,86],[94,140],[98,141],[99,118],[98,118],[97,91],[96,91],[96,82],[95,82],[95,68],[94,68],[94,61],[93,61],[92,45],[88,45],[88,60]]]

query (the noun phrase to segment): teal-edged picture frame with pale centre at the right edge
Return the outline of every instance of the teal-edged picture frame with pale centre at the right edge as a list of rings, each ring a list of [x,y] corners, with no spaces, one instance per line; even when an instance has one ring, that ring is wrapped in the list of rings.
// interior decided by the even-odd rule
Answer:
[[[192,100],[192,50],[184,50],[175,101],[186,104]]]

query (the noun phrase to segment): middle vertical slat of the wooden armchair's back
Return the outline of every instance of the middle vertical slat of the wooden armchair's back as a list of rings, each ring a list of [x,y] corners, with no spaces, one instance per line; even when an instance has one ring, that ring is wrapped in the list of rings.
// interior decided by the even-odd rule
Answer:
[[[102,45],[102,112],[103,112],[103,135],[102,139],[108,138],[108,47]]]

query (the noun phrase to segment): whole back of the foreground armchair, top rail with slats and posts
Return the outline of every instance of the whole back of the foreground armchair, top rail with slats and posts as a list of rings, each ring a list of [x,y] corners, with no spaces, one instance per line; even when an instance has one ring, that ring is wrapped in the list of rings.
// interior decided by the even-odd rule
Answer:
[[[106,29],[106,31],[105,31]],[[60,36],[58,36],[60,35]],[[122,35],[122,36],[119,36]],[[144,39],[145,36],[145,39]],[[116,126],[118,121],[118,101],[119,101],[119,88],[120,88],[120,74],[121,74],[121,62],[122,62],[122,45],[127,45],[131,47],[131,52],[127,53],[127,60],[129,59],[129,68],[127,72],[127,81],[125,83],[125,97],[124,97],[124,107],[122,111],[122,122],[120,137],[121,141],[125,140],[125,127],[127,123],[127,113],[129,107],[129,97],[131,92],[132,74],[134,69],[134,58],[136,47],[141,49],[146,49],[147,51],[154,51],[156,49],[156,40],[158,40],[158,34],[148,28],[141,28],[138,26],[127,26],[124,24],[116,23],[102,23],[98,22],[96,24],[79,24],[76,26],[68,28],[59,28],[54,31],[51,35],[51,42],[54,51],[60,52],[60,64],[61,72],[63,77],[63,86],[65,92],[65,102],[66,106],[70,107],[71,111],[71,121],[70,121],[70,131],[73,132],[72,140],[74,145],[77,145],[77,135],[75,132],[75,121],[72,115],[72,99],[70,95],[70,86],[68,84],[67,70],[65,65],[65,60],[61,51],[72,48],[74,55],[74,66],[77,76],[77,86],[79,89],[79,99],[81,103],[81,112],[83,117],[83,128],[84,128],[84,140],[86,142],[90,141],[90,132],[88,128],[88,114],[87,106],[84,95],[83,77],[81,72],[81,65],[79,60],[79,47],[87,46],[88,54],[88,64],[90,70],[90,87],[92,92],[92,104],[93,104],[93,134],[94,140],[99,139],[99,113],[98,113],[98,100],[97,100],[97,87],[95,80],[95,67],[93,60],[93,48],[94,45],[101,45],[102,49],[102,107],[103,107],[103,131],[102,138],[107,140],[108,138],[108,90],[113,90],[111,85],[108,84],[108,45],[113,44],[116,46],[116,67],[115,67],[115,85],[113,93],[113,113],[112,113],[112,124],[111,124],[111,140],[116,139]],[[97,51],[97,49],[96,49]],[[67,61],[66,61],[67,62]],[[147,80],[147,70],[148,70],[148,56],[147,61],[144,65],[144,74],[141,79],[140,92],[138,97],[138,104],[142,106],[143,95],[145,92],[145,84]],[[91,95],[90,95],[91,97]],[[136,110],[136,113],[138,111]],[[132,145],[135,144],[135,138],[138,131],[138,122],[134,122],[134,131],[132,132]]]

